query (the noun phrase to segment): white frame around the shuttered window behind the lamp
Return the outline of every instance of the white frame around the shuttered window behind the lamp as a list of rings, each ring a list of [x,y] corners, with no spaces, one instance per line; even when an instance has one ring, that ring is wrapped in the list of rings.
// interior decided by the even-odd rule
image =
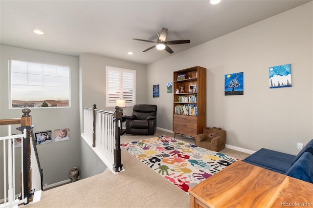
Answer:
[[[106,66],[106,107],[115,107],[116,104],[110,102],[110,93],[109,90],[112,88],[110,88],[109,83],[111,82],[110,79],[110,75],[109,75],[109,71],[114,71],[114,72],[119,72],[120,73],[120,77],[119,77],[119,94],[118,94],[118,98],[116,99],[125,99],[125,106],[126,107],[132,107],[136,104],[136,70],[134,69],[126,69],[126,68],[119,68],[119,67],[114,67],[114,66]],[[133,74],[133,97],[132,100],[133,101],[129,101],[129,99],[127,99],[124,95],[124,89],[125,87],[123,87],[123,73],[132,73]]]

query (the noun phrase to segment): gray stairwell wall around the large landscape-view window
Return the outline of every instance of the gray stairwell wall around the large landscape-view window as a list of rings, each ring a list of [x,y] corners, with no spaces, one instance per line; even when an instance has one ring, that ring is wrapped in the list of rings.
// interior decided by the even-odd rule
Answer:
[[[8,106],[9,59],[70,66],[71,107],[40,109],[31,108],[30,113],[32,116],[32,125],[35,126],[33,129],[34,132],[41,130],[52,130],[53,134],[55,129],[69,128],[69,141],[58,143],[52,141],[52,143],[50,144],[37,146],[40,163],[42,168],[44,169],[44,184],[50,185],[68,180],[69,171],[71,170],[71,168],[74,166],[80,168],[78,57],[52,54],[5,45],[0,45],[0,54],[0,119],[20,118],[22,116],[22,109],[9,109]],[[12,133],[15,133],[15,131],[13,131]],[[7,136],[7,126],[1,127],[0,135]],[[19,171],[17,171],[17,181],[19,181]],[[17,188],[17,190],[19,190],[19,188]]]

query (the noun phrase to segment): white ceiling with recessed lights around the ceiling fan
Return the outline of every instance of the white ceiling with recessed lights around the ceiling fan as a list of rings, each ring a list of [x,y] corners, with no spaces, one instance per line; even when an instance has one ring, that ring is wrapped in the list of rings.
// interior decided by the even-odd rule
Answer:
[[[90,53],[148,64],[311,0],[0,0],[0,43],[58,54]],[[168,28],[169,54],[156,48]],[[34,29],[45,35],[36,35]],[[128,55],[132,51],[134,55]]]

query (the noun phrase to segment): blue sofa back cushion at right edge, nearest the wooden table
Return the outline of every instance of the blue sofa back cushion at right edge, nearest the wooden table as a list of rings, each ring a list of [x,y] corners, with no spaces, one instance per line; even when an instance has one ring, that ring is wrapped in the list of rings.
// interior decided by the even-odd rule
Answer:
[[[310,152],[304,152],[286,175],[313,183],[313,155]]]

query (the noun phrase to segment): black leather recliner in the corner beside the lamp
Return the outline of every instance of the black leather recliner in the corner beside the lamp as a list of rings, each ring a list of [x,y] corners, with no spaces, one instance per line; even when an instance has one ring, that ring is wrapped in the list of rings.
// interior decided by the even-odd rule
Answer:
[[[127,134],[155,134],[156,109],[154,104],[135,104],[133,115],[125,116]]]

